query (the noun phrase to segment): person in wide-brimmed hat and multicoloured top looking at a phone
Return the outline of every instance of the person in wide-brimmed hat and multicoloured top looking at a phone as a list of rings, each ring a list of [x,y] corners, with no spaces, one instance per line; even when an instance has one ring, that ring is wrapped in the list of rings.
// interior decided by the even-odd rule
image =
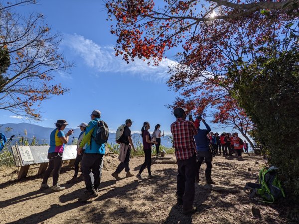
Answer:
[[[41,186],[39,190],[45,190],[50,188],[47,184],[49,176],[53,171],[53,186],[51,189],[53,191],[62,191],[65,187],[60,187],[58,185],[58,178],[60,169],[62,166],[62,154],[65,144],[68,142],[69,136],[74,133],[74,130],[69,130],[65,135],[63,130],[68,123],[66,120],[57,120],[55,123],[56,128],[50,134],[50,147],[48,149],[48,159],[49,166],[45,171]]]

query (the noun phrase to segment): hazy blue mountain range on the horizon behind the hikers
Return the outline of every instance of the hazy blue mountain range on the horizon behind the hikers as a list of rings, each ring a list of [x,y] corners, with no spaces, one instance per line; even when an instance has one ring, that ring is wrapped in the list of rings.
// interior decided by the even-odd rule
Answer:
[[[50,134],[53,131],[54,127],[42,127],[36,124],[31,123],[5,123],[0,124],[0,132],[4,133],[7,138],[12,135],[15,137],[35,137],[38,140],[38,143],[49,144]],[[68,132],[71,128],[65,128],[64,133]],[[76,139],[80,134],[80,128],[74,129],[74,134],[70,136],[69,143],[73,140],[73,137]],[[132,134],[134,143],[142,142],[142,137],[139,133]],[[18,139],[14,139],[14,142]],[[31,142],[31,140],[29,140]],[[109,143],[115,143],[115,133],[109,132]],[[161,144],[165,147],[172,147],[171,138],[169,136],[164,136],[161,138]]]

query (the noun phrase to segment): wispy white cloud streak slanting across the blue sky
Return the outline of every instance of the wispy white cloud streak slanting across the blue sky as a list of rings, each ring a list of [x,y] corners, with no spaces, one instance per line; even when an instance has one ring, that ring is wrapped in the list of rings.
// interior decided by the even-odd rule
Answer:
[[[152,81],[166,81],[170,77],[167,73],[168,66],[177,64],[167,58],[162,59],[159,66],[149,66],[149,61],[140,59],[127,64],[121,56],[115,56],[113,47],[98,45],[78,34],[66,34],[63,44],[97,72],[129,73]]]

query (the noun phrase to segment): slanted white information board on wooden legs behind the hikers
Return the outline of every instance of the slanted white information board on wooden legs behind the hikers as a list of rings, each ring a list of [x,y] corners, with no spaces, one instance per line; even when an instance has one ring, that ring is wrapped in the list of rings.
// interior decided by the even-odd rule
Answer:
[[[49,146],[17,146],[12,145],[11,150],[16,167],[21,167],[17,179],[26,177],[30,165],[40,164],[38,175],[44,173],[47,169],[49,160],[48,156]],[[63,152],[62,160],[70,160],[69,165],[73,165],[77,156],[76,145],[66,145]]]

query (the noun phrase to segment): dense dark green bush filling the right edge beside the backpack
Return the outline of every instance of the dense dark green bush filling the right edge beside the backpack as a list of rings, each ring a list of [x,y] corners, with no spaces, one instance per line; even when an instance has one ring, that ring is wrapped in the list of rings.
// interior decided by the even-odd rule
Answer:
[[[289,196],[299,199],[299,51],[259,57],[230,74],[237,81],[234,97],[255,123],[251,134],[269,165],[280,169]]]

